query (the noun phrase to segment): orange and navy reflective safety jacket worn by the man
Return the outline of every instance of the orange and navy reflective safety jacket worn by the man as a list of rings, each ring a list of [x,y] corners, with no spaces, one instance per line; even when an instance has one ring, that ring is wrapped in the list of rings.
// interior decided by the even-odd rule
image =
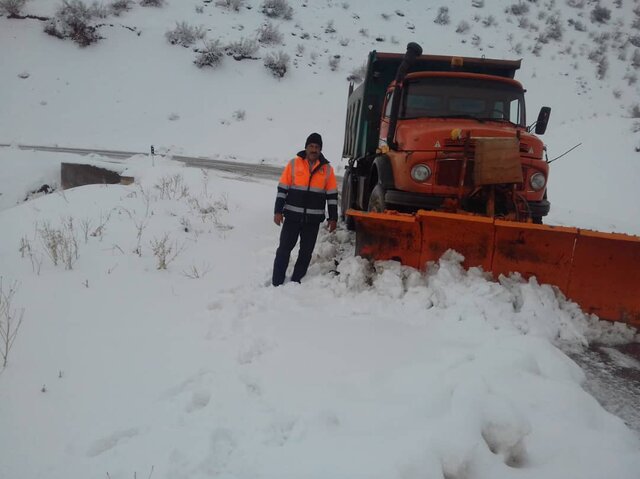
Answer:
[[[320,154],[311,167],[301,151],[285,167],[278,183],[275,213],[304,223],[324,221],[325,201],[329,219],[338,220],[338,185],[329,161]]]

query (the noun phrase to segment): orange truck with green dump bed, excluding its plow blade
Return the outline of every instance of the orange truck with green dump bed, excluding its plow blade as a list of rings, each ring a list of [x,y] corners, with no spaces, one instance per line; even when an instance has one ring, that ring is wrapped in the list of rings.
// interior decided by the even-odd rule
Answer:
[[[371,52],[363,83],[349,89],[343,215],[349,208],[485,213],[476,148],[502,139],[521,174],[492,188],[495,216],[515,208],[520,220],[541,222],[549,168],[527,127],[525,90],[513,78],[519,67],[519,60],[422,55],[416,44],[404,56]],[[541,110],[536,134],[549,111]]]

